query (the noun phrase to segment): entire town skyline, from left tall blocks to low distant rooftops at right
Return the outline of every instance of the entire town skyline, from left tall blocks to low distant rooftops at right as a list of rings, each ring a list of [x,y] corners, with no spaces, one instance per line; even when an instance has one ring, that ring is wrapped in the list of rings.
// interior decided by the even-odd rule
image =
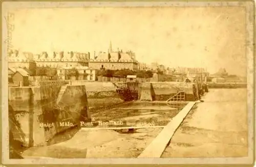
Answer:
[[[33,54],[31,52],[21,52],[13,50],[8,53],[8,66],[11,69],[26,68],[36,69],[36,67],[49,66],[57,69],[57,77],[60,79],[65,78],[65,72],[68,69],[76,68],[81,74],[79,79],[96,80],[96,70],[100,69],[130,69],[130,70],[153,70],[160,71],[166,75],[180,75],[184,73],[196,73],[203,72],[203,69],[189,69],[189,68],[165,68],[158,63],[152,63],[147,65],[145,63],[139,63],[136,60],[136,55],[133,51],[123,51],[112,49],[112,43],[110,42],[108,52],[99,52],[96,55],[94,52],[91,55],[90,52],[42,52],[40,54]],[[10,70],[14,71],[14,70]],[[87,75],[83,75],[87,74]]]

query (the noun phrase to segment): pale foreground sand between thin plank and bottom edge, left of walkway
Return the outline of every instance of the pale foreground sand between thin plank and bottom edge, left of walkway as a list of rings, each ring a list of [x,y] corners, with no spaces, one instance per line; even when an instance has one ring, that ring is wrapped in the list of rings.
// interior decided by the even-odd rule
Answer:
[[[133,133],[114,130],[79,130],[70,140],[23,152],[25,158],[136,158],[162,128],[137,129]]]

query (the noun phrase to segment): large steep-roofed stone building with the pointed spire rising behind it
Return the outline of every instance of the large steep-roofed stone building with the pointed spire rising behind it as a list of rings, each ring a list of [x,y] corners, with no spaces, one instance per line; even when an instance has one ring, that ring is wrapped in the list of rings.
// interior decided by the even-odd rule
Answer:
[[[92,69],[138,69],[138,61],[135,59],[135,53],[132,51],[123,52],[122,50],[113,51],[112,44],[108,52],[99,52],[98,56],[89,60],[89,68]]]

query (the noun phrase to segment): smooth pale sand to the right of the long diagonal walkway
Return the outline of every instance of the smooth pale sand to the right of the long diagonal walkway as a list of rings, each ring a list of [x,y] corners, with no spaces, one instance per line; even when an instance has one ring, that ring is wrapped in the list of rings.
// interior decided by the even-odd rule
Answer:
[[[178,128],[162,158],[247,156],[246,89],[210,89]]]

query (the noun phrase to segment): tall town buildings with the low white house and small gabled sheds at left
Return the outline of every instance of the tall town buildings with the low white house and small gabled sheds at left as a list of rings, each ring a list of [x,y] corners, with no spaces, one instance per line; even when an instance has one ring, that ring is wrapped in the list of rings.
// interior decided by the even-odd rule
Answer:
[[[36,80],[36,76],[30,76],[29,71],[22,69],[36,69],[36,67],[52,67],[57,69],[58,79],[67,79],[66,72],[69,69],[75,68],[79,72],[78,79],[96,80],[96,70],[99,69],[146,69],[144,64],[142,66],[135,58],[133,51],[123,51],[122,49],[113,51],[112,43],[108,52],[99,52],[97,55],[94,52],[93,56],[90,52],[42,52],[40,54],[33,54],[31,52],[20,52],[18,50],[11,50],[8,52],[8,74],[9,79],[14,76],[14,79],[29,78],[29,80]],[[86,75],[84,75],[86,74]],[[39,77],[39,76],[37,76]],[[39,79],[39,78],[38,78]],[[24,80],[24,79],[23,79]],[[26,85],[27,79],[24,84]],[[17,83],[15,82],[17,85]]]

